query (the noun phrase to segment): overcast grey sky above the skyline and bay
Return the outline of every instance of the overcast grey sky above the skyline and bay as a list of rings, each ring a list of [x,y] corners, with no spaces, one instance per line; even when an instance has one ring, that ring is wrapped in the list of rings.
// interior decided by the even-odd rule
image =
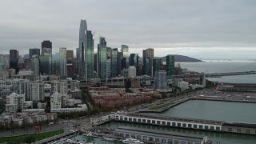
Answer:
[[[256,59],[255,0],[6,0],[0,2],[0,49],[41,48],[43,40],[75,50],[81,19],[107,46],[155,56]]]

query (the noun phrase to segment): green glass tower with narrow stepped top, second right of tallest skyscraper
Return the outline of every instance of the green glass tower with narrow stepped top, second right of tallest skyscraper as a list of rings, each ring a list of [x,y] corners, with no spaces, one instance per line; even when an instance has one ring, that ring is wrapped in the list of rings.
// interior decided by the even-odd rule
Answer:
[[[97,58],[98,58],[97,60],[98,78],[106,79],[106,40],[103,37],[99,38]]]

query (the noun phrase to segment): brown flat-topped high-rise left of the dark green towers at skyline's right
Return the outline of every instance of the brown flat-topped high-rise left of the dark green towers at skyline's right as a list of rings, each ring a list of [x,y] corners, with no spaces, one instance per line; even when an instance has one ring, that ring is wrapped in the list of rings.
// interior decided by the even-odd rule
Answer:
[[[144,74],[152,76],[152,66],[153,66],[153,58],[154,58],[154,49],[146,49],[143,50],[143,69]],[[150,62],[150,64],[148,64]],[[147,66],[150,65],[150,66]]]

